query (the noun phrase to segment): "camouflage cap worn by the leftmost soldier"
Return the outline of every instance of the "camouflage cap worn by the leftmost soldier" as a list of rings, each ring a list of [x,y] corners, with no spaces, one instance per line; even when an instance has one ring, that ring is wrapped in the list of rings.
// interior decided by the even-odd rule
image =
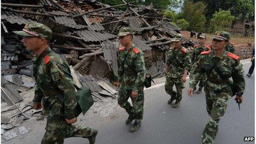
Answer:
[[[22,36],[33,36],[39,38],[45,38],[47,40],[51,40],[52,31],[51,29],[41,23],[28,23],[24,26],[21,31],[13,31],[13,33],[22,35]]]

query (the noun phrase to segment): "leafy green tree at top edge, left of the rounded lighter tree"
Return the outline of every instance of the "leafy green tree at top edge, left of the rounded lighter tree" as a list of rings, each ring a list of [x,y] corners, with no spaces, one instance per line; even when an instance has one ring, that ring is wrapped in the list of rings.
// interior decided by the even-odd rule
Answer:
[[[182,7],[182,17],[189,23],[188,30],[205,31],[206,18],[204,15],[205,4],[185,1]]]

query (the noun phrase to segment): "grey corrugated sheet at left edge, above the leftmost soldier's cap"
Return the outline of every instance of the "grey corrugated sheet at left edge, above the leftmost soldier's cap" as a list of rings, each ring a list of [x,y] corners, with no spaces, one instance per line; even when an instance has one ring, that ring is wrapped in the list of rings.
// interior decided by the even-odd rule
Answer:
[[[30,20],[30,19],[24,19],[24,18],[20,18],[20,17],[17,17],[15,15],[6,15],[6,14],[3,14],[1,15],[1,19],[2,20],[6,20],[7,22],[11,23],[11,24],[19,24],[19,25],[22,25],[22,24],[27,24],[29,22],[34,22],[33,20]]]

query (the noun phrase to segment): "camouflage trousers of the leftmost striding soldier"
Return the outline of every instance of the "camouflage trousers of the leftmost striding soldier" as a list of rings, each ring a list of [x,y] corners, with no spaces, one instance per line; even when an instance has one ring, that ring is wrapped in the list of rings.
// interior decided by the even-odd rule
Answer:
[[[88,138],[94,133],[94,129],[90,127],[67,124],[64,119],[56,120],[56,117],[54,119],[47,119],[45,135],[41,141],[42,144],[63,143],[64,138],[68,137]]]

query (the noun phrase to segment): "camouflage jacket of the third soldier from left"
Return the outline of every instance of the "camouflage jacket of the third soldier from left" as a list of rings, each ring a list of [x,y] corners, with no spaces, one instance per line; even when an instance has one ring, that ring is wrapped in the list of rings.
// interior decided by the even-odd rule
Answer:
[[[166,65],[168,66],[167,76],[182,77],[184,70],[189,70],[191,66],[189,51],[182,46],[178,50],[173,48],[169,51]]]

